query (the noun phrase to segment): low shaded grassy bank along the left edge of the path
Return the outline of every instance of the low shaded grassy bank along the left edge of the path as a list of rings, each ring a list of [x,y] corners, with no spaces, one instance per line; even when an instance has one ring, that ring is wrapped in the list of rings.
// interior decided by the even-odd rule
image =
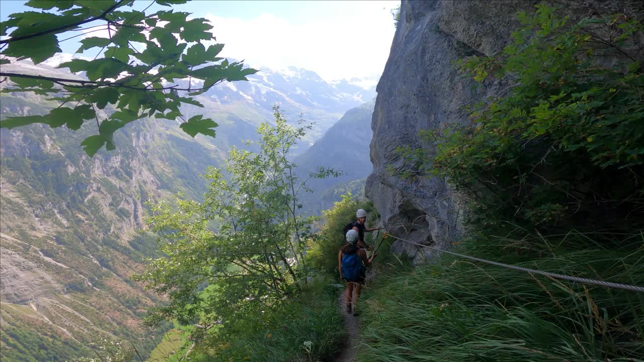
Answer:
[[[196,347],[193,361],[330,361],[346,338],[338,292],[319,278],[283,305],[232,321],[225,333]]]

